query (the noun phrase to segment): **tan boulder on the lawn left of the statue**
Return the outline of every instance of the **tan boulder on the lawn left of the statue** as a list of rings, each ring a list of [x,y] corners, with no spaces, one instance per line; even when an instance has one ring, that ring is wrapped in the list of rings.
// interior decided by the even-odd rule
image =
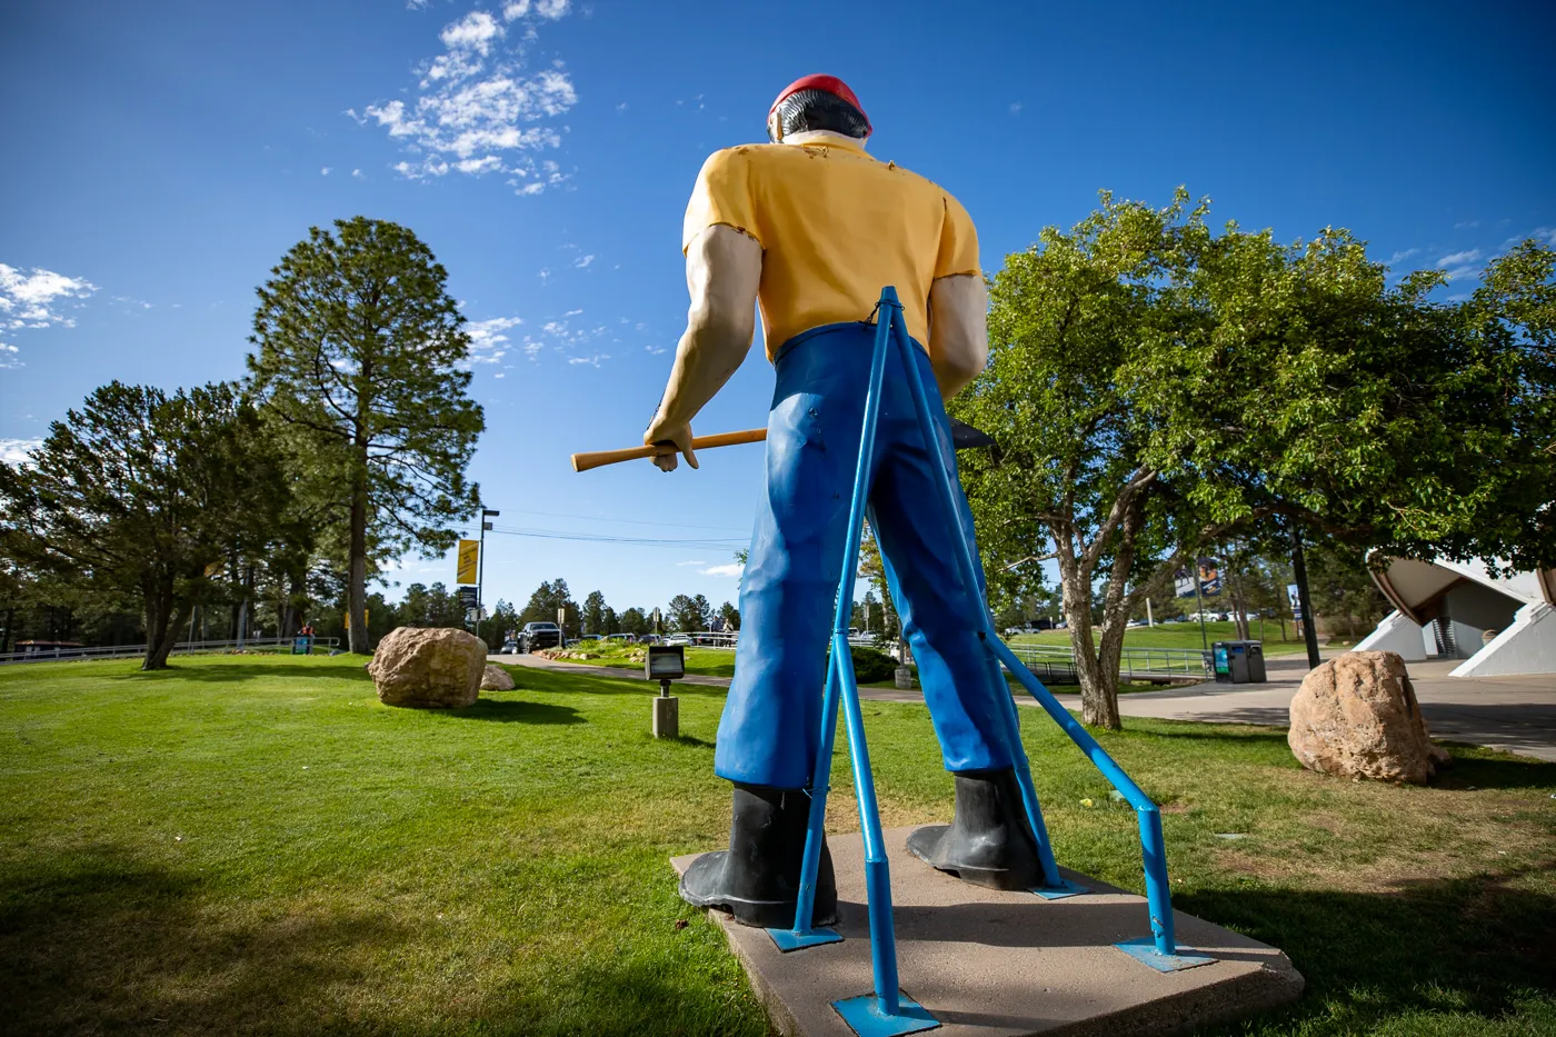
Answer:
[[[367,673],[384,705],[459,708],[481,694],[485,654],[468,631],[401,626],[378,642]]]

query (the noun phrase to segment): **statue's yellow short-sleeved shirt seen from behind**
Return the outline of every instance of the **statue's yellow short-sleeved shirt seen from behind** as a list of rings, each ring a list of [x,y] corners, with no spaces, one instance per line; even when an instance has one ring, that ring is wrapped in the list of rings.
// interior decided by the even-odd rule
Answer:
[[[865,321],[893,285],[907,333],[929,344],[929,285],[979,274],[977,232],[938,185],[837,140],[714,151],[682,235],[728,224],[762,246],[758,302],[767,358],[800,332]]]

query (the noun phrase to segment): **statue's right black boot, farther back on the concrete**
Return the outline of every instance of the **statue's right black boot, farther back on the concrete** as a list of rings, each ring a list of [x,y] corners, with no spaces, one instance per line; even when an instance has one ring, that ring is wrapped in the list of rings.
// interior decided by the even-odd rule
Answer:
[[[1015,768],[963,771],[955,779],[955,821],[920,828],[907,838],[907,849],[918,859],[974,886],[1041,886],[1038,841],[1027,824]]]

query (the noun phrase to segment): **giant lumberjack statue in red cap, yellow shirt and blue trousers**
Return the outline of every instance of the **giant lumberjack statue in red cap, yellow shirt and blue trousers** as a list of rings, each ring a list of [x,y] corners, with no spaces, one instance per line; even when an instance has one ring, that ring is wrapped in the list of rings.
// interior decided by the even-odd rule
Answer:
[[[677,453],[697,467],[691,420],[745,360],[759,302],[778,383],[767,417],[767,487],[741,584],[734,684],[714,757],[714,771],[734,783],[730,850],[697,858],[680,888],[689,903],[728,909],[745,925],[794,922],[881,288],[896,288],[926,383],[932,375],[941,399],[966,386],[988,357],[972,221],[935,184],[868,156],[870,129],[840,79],[806,76],[773,101],[772,143],[727,148],[703,163],[682,238],[686,333],[643,436],[663,447],[655,458],[663,470],[675,469]],[[935,420],[954,469],[938,402]],[[935,522],[932,462],[890,350],[870,526],[957,797],[954,824],[924,828],[909,845],[968,881],[1036,886],[1036,842],[996,699],[1008,691],[994,687],[976,634],[983,603],[962,589],[946,550],[955,536],[971,545],[972,517],[958,490],[962,528]],[[960,487],[955,470],[949,475]],[[815,923],[831,922],[836,905],[823,849]]]

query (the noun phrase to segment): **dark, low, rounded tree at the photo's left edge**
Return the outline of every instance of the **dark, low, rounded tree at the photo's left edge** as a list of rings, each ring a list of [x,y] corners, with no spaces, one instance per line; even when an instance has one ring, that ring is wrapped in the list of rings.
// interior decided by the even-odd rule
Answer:
[[[143,670],[166,666],[209,567],[263,553],[286,497],[254,408],[230,385],[114,381],[0,466],[0,551],[145,612]]]

